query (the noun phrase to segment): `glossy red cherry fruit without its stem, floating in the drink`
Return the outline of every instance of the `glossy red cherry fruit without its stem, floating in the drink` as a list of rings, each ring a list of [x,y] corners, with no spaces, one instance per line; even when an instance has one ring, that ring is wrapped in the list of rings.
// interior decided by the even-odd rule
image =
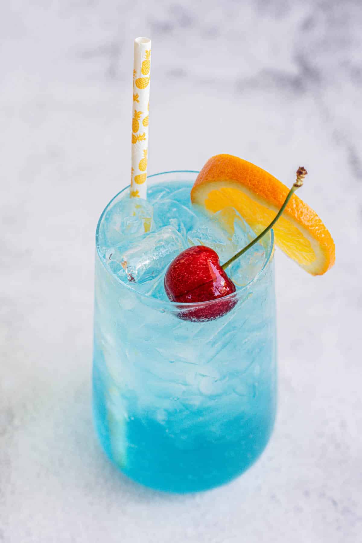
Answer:
[[[223,300],[236,291],[235,285],[221,268],[217,253],[204,245],[189,247],[176,256],[164,276],[164,289],[174,302],[193,304],[220,299],[215,304],[185,308],[180,312],[180,318],[185,320],[217,319],[237,303],[235,298]]]

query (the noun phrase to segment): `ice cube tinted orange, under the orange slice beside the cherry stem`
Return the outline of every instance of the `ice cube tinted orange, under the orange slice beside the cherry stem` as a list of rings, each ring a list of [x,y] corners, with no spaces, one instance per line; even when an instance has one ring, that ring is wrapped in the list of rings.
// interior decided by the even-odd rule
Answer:
[[[233,207],[199,219],[196,228],[187,235],[189,245],[206,245],[217,252],[223,264],[242,249],[253,233],[249,225]]]

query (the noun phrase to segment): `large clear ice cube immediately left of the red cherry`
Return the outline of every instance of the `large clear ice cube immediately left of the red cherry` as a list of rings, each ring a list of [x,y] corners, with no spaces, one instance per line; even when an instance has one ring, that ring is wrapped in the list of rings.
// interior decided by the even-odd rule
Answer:
[[[173,226],[139,236],[107,253],[109,266],[118,264],[122,280],[143,283],[158,276],[187,245]],[[116,264],[115,264],[116,263]]]

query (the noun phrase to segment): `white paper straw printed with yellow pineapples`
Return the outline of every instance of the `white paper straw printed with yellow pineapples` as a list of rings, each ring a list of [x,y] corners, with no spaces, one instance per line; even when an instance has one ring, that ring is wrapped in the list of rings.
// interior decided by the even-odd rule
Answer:
[[[136,37],[133,72],[131,198],[147,199],[151,40]]]

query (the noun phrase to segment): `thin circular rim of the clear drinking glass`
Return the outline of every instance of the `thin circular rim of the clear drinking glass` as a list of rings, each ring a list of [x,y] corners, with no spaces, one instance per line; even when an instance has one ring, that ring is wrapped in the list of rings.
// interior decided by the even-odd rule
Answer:
[[[155,177],[157,177],[159,175],[167,175],[167,174],[173,174],[173,173],[177,173],[177,174],[179,174],[179,173],[181,173],[181,174],[182,173],[199,174],[200,172],[197,171],[197,170],[169,170],[167,172],[159,172],[159,173],[154,173],[154,174],[148,175],[147,179],[155,178]],[[137,296],[139,296],[139,298],[141,300],[144,300],[145,302],[147,302],[147,305],[153,305],[154,304],[155,307],[164,308],[164,309],[168,309],[168,310],[171,310],[171,311],[175,311],[175,310],[176,311],[177,310],[185,311],[186,308],[192,309],[192,308],[206,307],[206,306],[210,307],[213,304],[220,303],[220,301],[232,300],[232,299],[235,299],[235,298],[239,299],[239,298],[241,298],[242,296],[245,295],[245,292],[247,290],[249,290],[249,288],[254,283],[257,282],[258,277],[261,276],[261,274],[263,273],[265,268],[271,262],[272,257],[274,256],[274,247],[275,247],[274,231],[273,231],[273,229],[270,229],[270,244],[268,246],[268,250],[265,251],[265,262],[264,262],[262,268],[256,274],[256,276],[253,277],[253,279],[249,283],[247,283],[247,285],[239,287],[236,292],[233,292],[231,294],[227,294],[227,296],[223,296],[222,298],[217,298],[215,300],[208,300],[208,301],[204,301],[204,302],[193,302],[192,304],[190,304],[188,302],[173,302],[171,300],[160,300],[158,298],[154,298],[153,296],[149,296],[148,294],[138,292],[138,291],[136,291],[136,289],[134,289],[134,288],[130,287],[129,285],[127,285],[127,283],[124,283],[117,275],[112,273],[112,271],[109,269],[109,267],[107,267],[107,265],[105,263],[105,260],[104,260],[104,257],[101,255],[100,247],[99,247],[99,243],[98,243],[98,233],[99,233],[99,229],[100,229],[100,224],[101,224],[101,221],[102,221],[105,213],[107,212],[107,210],[111,206],[112,202],[115,201],[116,198],[118,198],[118,196],[120,194],[122,194],[123,192],[125,192],[129,188],[130,188],[130,185],[127,185],[121,191],[117,192],[117,194],[109,201],[109,203],[105,206],[104,210],[101,212],[100,217],[98,219],[97,228],[96,228],[96,250],[97,250],[97,255],[99,257],[99,260],[100,260],[101,264],[103,265],[103,267],[105,268],[107,274],[109,274],[114,280],[116,280],[122,288],[125,288],[129,292],[132,292],[133,294],[136,294]]]

